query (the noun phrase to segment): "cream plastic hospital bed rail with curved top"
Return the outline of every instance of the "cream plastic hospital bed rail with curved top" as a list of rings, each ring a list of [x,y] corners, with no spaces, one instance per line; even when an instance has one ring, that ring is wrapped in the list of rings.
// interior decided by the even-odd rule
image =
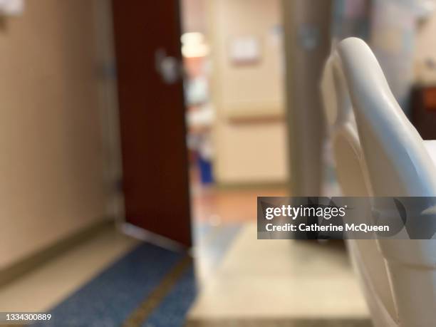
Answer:
[[[323,77],[331,128],[338,130],[352,121],[351,115],[355,118],[373,195],[426,197],[429,207],[433,205],[436,141],[422,141],[391,93],[370,48],[358,38],[341,41]],[[425,223],[420,217],[412,219]],[[387,266],[399,326],[436,326],[436,239],[377,242]],[[360,264],[364,269],[373,261],[362,258]]]

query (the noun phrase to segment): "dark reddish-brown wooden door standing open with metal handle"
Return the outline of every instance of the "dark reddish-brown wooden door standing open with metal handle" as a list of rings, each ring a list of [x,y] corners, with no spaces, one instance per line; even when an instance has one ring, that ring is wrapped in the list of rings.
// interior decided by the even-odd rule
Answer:
[[[113,0],[127,222],[192,243],[176,0]]]

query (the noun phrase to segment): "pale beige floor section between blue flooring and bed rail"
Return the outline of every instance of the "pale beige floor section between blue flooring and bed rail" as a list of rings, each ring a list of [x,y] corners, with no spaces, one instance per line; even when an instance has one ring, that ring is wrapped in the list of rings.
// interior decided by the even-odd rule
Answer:
[[[370,326],[368,315],[343,244],[257,240],[247,224],[187,326]]]

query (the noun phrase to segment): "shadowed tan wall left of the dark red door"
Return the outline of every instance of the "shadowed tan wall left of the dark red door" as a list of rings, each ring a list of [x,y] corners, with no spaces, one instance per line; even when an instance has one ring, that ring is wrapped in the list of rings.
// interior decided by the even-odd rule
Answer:
[[[0,29],[0,269],[105,217],[92,1]]]

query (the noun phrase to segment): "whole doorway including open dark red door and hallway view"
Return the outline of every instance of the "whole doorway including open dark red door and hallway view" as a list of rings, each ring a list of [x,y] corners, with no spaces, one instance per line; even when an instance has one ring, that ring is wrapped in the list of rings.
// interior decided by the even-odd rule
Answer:
[[[202,276],[288,194],[281,3],[253,1],[113,0],[126,222]]]

